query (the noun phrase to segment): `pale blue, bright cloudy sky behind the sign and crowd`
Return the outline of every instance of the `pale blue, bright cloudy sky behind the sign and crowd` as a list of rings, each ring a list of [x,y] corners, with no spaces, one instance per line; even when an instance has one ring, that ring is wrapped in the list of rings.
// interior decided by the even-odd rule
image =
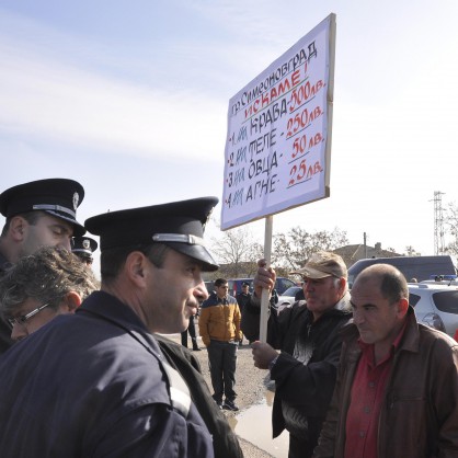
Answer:
[[[275,216],[274,232],[337,226],[433,254],[434,191],[457,201],[455,0],[0,0],[1,188],[78,180],[81,221],[221,198],[229,99],[331,12],[331,197]],[[262,221],[249,228],[263,240]]]

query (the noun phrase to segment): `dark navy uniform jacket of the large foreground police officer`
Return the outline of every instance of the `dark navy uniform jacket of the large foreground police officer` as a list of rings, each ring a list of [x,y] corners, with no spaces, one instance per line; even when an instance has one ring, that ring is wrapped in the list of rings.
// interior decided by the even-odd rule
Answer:
[[[213,457],[171,370],[137,314],[93,293],[0,359],[1,457]]]

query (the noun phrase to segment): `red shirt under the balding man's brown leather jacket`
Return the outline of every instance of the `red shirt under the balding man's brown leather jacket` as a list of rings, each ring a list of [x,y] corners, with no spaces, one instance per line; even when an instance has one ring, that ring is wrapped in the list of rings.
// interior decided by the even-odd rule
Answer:
[[[363,351],[352,386],[352,401],[346,415],[345,458],[377,458],[377,432],[388,376],[404,328],[391,351],[377,365],[374,344],[358,344]]]

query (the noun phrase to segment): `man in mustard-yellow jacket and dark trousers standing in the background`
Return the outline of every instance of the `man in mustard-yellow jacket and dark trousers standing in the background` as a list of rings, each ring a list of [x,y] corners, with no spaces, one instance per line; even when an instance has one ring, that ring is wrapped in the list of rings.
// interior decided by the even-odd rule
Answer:
[[[198,330],[208,351],[213,398],[221,409],[237,411],[237,348],[242,340],[241,313],[234,297],[228,295],[228,282],[215,280],[215,291],[202,305]],[[225,396],[225,402],[222,397]]]

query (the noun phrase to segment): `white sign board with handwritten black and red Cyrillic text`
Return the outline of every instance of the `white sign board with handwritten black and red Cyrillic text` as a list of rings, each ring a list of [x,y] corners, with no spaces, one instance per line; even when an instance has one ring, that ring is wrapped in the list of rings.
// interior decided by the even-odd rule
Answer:
[[[329,194],[332,16],[230,100],[222,229]]]

